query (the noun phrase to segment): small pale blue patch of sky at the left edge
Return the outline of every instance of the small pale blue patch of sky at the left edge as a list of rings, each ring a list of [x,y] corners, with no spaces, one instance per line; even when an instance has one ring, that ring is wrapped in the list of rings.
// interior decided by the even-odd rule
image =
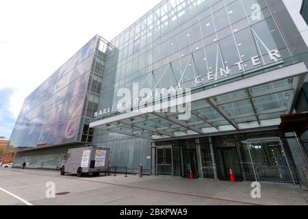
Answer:
[[[11,88],[0,90],[0,136],[5,136],[5,138],[10,138],[15,125],[15,118],[8,111],[8,103],[10,103],[13,92]]]

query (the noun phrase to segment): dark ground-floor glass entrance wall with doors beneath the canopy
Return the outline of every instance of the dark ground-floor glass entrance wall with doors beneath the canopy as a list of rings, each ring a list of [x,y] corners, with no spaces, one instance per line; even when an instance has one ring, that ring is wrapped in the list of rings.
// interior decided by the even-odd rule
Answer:
[[[169,166],[170,170],[157,165],[154,172],[181,177],[189,177],[192,172],[197,178],[229,180],[231,168],[237,181],[256,181],[256,177],[265,177],[265,181],[298,182],[299,176],[290,172],[296,165],[294,156],[287,140],[282,139],[277,131],[259,131],[155,142],[157,152],[153,155],[157,156],[157,164],[161,164],[163,160],[160,159],[164,157],[173,165]],[[163,154],[166,149],[175,149],[179,153]],[[175,166],[175,160],[181,161],[179,166]]]

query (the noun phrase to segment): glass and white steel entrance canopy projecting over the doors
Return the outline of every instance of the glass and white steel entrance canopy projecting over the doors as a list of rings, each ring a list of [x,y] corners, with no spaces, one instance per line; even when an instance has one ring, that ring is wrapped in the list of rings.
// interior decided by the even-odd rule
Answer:
[[[144,108],[101,118],[90,127],[159,140],[279,125],[282,114],[293,112],[306,73],[307,67],[300,62],[194,92],[188,120],[170,112],[179,104],[172,99],[157,105],[161,112],[156,106],[155,112]]]

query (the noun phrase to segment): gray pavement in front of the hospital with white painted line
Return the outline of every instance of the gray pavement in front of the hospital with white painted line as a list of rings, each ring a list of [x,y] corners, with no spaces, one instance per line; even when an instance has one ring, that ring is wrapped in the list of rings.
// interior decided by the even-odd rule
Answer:
[[[69,193],[46,198],[48,181],[55,183],[56,193]],[[308,192],[297,186],[263,185],[261,198],[251,198],[248,182],[136,175],[78,178],[54,170],[0,168],[0,205],[308,205]]]

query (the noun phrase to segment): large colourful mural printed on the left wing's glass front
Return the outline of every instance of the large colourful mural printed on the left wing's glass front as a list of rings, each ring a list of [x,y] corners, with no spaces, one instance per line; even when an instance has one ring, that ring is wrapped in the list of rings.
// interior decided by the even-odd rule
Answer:
[[[14,146],[76,141],[97,36],[32,92],[12,132]]]

